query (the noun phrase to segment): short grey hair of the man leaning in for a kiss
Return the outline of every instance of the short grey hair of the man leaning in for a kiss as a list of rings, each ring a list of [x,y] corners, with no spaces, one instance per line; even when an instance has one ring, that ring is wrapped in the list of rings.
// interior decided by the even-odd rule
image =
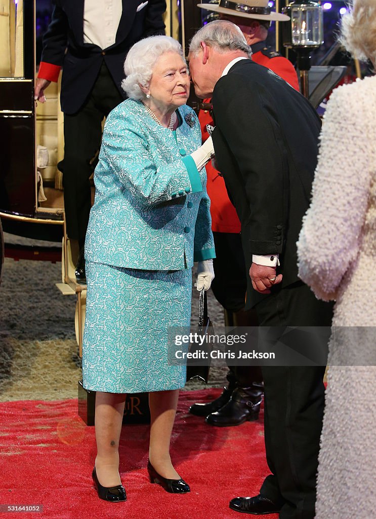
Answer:
[[[200,43],[205,42],[209,47],[214,47],[219,52],[230,50],[242,50],[249,58],[252,50],[239,27],[228,20],[214,20],[199,29],[193,36],[190,45],[190,53],[197,54]]]

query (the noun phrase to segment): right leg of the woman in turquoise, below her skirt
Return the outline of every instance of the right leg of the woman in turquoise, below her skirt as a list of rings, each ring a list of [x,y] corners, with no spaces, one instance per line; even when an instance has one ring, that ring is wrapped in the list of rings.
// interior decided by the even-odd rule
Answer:
[[[172,467],[170,439],[178,405],[179,390],[149,393],[151,416],[149,459],[154,469],[170,480],[180,476]]]

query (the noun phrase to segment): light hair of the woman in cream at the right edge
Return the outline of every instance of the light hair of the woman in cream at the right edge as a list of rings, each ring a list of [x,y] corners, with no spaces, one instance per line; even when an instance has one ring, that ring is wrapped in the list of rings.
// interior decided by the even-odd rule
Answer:
[[[376,2],[354,0],[349,12],[342,16],[341,44],[356,59],[376,62]]]

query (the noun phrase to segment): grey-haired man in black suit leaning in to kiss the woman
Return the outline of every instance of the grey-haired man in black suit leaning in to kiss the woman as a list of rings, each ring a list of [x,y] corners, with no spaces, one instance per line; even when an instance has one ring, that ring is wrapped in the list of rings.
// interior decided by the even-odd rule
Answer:
[[[248,59],[249,53],[236,25],[214,21],[193,37],[189,62],[198,97],[212,95],[216,162],[241,222],[249,269],[247,306],[255,308],[261,326],[274,327],[277,344],[286,326],[331,322],[331,306],[297,277],[296,241],[309,206],[321,124],[299,92]],[[257,496],[235,498],[230,508],[313,519],[324,370],[262,367],[271,474]]]

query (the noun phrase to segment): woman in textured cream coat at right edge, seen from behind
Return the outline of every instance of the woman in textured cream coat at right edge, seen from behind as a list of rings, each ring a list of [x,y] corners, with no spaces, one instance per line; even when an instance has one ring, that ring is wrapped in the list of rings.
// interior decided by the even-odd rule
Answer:
[[[376,62],[376,2],[342,19],[355,57]],[[316,519],[376,510],[376,77],[339,87],[328,102],[312,203],[298,242],[299,275],[335,299]]]

